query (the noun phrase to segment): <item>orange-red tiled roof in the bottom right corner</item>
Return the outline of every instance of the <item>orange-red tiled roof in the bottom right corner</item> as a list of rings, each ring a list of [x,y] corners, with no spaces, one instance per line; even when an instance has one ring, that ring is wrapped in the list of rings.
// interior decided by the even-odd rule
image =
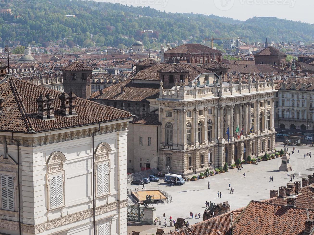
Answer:
[[[310,218],[314,210],[309,210]],[[303,234],[305,208],[251,201],[232,224],[232,234]]]

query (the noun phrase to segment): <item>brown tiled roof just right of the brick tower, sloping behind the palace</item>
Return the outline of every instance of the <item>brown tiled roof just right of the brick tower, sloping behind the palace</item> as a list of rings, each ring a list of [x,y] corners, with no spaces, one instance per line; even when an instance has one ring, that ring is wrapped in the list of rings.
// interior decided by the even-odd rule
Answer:
[[[124,87],[125,91],[122,92],[121,87]],[[158,98],[159,87],[159,84],[135,83],[132,82],[132,79],[128,79],[103,89],[102,94],[100,91],[92,93],[89,99],[146,101],[146,98]]]

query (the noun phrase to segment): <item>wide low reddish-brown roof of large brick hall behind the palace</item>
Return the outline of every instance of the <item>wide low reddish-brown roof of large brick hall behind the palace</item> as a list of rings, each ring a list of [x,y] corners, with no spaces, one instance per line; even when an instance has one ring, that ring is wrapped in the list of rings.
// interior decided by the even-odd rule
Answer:
[[[202,44],[183,44],[165,51],[165,56],[169,54],[222,54],[219,50],[214,50]]]

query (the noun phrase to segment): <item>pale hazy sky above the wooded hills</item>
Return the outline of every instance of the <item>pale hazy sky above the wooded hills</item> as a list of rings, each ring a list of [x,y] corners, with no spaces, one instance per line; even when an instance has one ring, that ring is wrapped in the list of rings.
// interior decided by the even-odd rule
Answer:
[[[314,24],[314,0],[95,0],[133,6],[150,6],[172,13],[214,14],[239,20],[274,16]]]

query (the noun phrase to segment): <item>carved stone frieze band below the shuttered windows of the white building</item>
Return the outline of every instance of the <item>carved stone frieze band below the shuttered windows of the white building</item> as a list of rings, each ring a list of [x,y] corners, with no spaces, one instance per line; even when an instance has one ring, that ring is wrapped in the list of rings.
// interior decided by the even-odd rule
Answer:
[[[127,207],[127,200],[123,201],[114,201],[112,203],[99,206],[95,208],[95,215],[102,215],[107,212],[111,212],[117,209]],[[93,216],[93,209],[88,209],[85,211],[77,212],[68,216],[60,217],[51,221],[47,221],[38,225],[28,225],[21,224],[22,231],[31,233],[31,234],[39,234],[41,232],[45,232],[46,230],[61,227],[70,223],[78,222],[84,219],[91,218]],[[19,223],[8,221],[8,220],[0,220],[0,228],[8,229],[11,231],[19,231]]]

